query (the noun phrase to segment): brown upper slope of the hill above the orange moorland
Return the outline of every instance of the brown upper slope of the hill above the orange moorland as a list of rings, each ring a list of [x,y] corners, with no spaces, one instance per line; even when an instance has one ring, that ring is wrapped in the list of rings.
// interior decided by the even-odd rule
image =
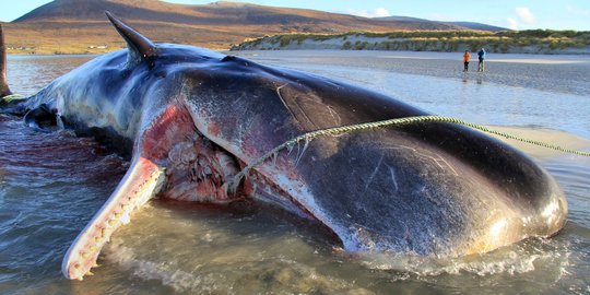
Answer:
[[[344,27],[363,31],[415,30],[423,24],[412,21],[380,20],[315,10],[263,7],[237,2],[186,5],[158,0],[56,0],[15,20],[22,22],[105,21],[104,11],[128,21],[168,22],[190,25],[274,25],[269,30],[334,32]],[[432,24],[430,30],[456,30],[455,25]]]

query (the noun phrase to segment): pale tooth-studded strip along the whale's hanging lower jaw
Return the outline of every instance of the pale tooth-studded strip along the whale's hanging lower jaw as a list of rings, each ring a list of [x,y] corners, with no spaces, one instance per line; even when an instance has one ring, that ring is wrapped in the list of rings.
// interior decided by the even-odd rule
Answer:
[[[94,237],[94,245],[86,245],[86,247],[83,247],[79,251],[79,255],[83,260],[87,261],[90,259],[94,259],[96,261],[98,253],[101,252],[102,246],[105,243],[109,241],[113,232],[115,232],[115,229],[117,229],[120,224],[128,224],[130,222],[130,214],[134,208],[133,200],[137,200],[140,196],[140,192],[143,192],[150,184],[156,181],[161,173],[161,170],[152,173],[148,180],[141,184],[137,190],[133,190],[131,196],[126,198],[127,202],[119,204],[119,209],[121,210],[121,212],[116,212],[106,222],[97,223],[95,225],[99,234]],[[114,211],[117,211],[117,209],[115,209]],[[102,226],[101,224],[105,224],[105,226]],[[110,229],[110,233],[107,232],[108,229]],[[80,264],[80,262],[75,262],[72,267],[74,269],[80,269],[82,266]],[[98,267],[98,264],[95,262],[92,268],[96,267]],[[90,271],[87,271],[85,274],[93,275],[93,273]],[[82,280],[82,276],[79,280]]]

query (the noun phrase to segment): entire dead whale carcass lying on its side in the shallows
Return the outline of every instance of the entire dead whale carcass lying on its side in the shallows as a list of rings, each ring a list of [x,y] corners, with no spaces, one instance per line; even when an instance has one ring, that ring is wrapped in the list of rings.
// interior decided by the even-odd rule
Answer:
[[[543,168],[449,123],[314,139],[257,166],[227,193],[245,165],[296,135],[427,114],[330,79],[156,45],[107,16],[128,49],[99,56],[28,98],[0,103],[32,127],[94,135],[131,161],[69,248],[68,279],[82,279],[113,232],[153,197],[253,199],[317,222],[346,251],[422,257],[486,252],[552,236],[566,221],[565,197]],[[5,79],[2,84],[9,94]]]

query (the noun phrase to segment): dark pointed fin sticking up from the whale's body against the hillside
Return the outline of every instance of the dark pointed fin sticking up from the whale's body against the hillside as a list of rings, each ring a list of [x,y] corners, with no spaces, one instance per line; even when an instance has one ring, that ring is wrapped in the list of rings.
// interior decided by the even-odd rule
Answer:
[[[115,17],[110,12],[105,11],[105,14],[119,35],[127,42],[127,46],[129,47],[128,64],[134,66],[142,61],[146,61],[150,68],[154,67],[154,60],[157,57],[155,44],[121,20]]]

